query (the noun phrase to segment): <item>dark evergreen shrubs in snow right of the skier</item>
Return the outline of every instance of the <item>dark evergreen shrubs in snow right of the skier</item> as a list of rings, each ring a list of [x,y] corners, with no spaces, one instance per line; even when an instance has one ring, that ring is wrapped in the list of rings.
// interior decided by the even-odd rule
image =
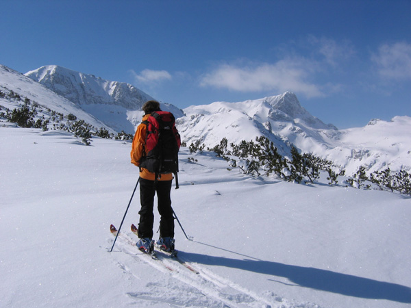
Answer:
[[[198,149],[199,143],[192,143],[190,153]],[[219,144],[208,148],[208,151],[214,151],[217,157],[227,160],[229,166],[238,167],[245,174],[257,177],[276,175],[284,181],[314,183],[319,179],[321,171],[324,171],[327,172],[328,185],[337,185],[338,177],[345,175],[345,170],[340,166],[311,153],[301,154],[295,146],[291,146],[289,158],[283,157],[277,152],[273,142],[264,136],[257,137],[255,142],[242,140],[239,144],[232,143],[229,146],[227,138],[223,138]],[[386,168],[367,176],[366,167],[360,166],[345,183],[359,189],[371,189],[376,185],[380,190],[411,196],[411,174],[406,170],[391,172]]]

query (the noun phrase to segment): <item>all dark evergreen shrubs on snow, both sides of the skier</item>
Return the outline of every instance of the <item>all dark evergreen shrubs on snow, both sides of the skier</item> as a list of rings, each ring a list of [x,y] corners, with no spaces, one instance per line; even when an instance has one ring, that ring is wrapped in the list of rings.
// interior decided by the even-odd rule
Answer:
[[[0,90],[0,98],[20,103],[20,107],[14,110],[0,105],[0,118],[16,123],[19,127],[34,127],[43,131],[49,129],[69,131],[82,139],[86,145],[90,145],[92,136],[114,140],[132,140],[134,137],[125,131],[114,135],[103,127],[97,129],[84,120],[77,120],[74,114],[64,116],[27,97],[21,97],[12,90]],[[182,146],[186,146],[186,142],[183,142]],[[188,149],[190,153],[197,151],[202,153],[205,148],[205,144],[197,140],[192,142]],[[283,157],[278,153],[273,142],[264,136],[257,137],[255,142],[242,140],[239,144],[228,144],[227,138],[223,138],[219,144],[208,148],[208,151],[214,151],[217,157],[227,160],[230,167],[238,167],[245,174],[256,177],[275,175],[284,181],[314,183],[319,179],[322,170],[327,172],[328,184],[336,185],[338,177],[345,175],[345,170],[340,166],[310,153],[299,153],[295,146],[291,146],[290,157]],[[411,196],[411,174],[406,170],[392,172],[390,168],[386,168],[367,176],[366,167],[360,166],[345,183],[358,189],[377,188]]]

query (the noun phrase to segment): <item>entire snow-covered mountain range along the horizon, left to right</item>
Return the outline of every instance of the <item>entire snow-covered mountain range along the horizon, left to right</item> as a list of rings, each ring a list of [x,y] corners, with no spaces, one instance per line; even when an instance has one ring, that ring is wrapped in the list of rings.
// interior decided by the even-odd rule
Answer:
[[[60,66],[43,66],[25,74],[40,84],[7,70],[13,75],[13,80],[5,80],[10,90],[25,89],[32,97],[42,97],[42,93],[47,92],[48,97],[41,101],[56,105],[57,111],[69,108],[71,113],[79,114],[78,118],[90,124],[99,119],[100,125],[104,123],[115,131],[134,133],[142,118],[141,105],[151,99],[129,84]],[[1,71],[4,75],[5,66]],[[38,94],[34,94],[37,90],[31,90],[34,84]],[[55,91],[54,94],[45,86]],[[238,143],[266,136],[282,155],[289,155],[290,146],[294,145],[302,153],[313,153],[342,166],[347,175],[352,175],[360,166],[369,172],[387,167],[394,171],[411,170],[411,118],[408,116],[397,116],[390,121],[375,119],[365,127],[338,130],[312,116],[292,92],[236,103],[218,101],[193,105],[184,110],[163,103],[162,110],[175,114],[177,128],[187,144],[200,141],[212,147],[223,138],[229,143]]]

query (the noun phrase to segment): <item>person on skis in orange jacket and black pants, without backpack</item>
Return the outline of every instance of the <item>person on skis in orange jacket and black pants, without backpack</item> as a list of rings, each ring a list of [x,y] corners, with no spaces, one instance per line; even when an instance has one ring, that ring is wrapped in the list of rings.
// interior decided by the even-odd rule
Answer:
[[[142,123],[137,127],[130,153],[132,164],[140,168],[141,209],[138,211],[138,214],[140,214],[140,222],[138,224],[139,240],[136,246],[145,253],[153,251],[153,205],[154,196],[157,193],[158,212],[161,216],[160,239],[157,242],[157,246],[164,251],[173,252],[175,243],[174,217],[170,197],[173,174],[158,174],[157,172],[150,172],[147,168],[142,168],[141,166],[141,164],[144,165],[144,159],[147,155],[147,120],[153,112],[161,112],[160,103],[158,101],[147,101],[142,105],[142,111],[145,112],[145,115],[142,117]],[[179,138],[178,133],[177,136]]]

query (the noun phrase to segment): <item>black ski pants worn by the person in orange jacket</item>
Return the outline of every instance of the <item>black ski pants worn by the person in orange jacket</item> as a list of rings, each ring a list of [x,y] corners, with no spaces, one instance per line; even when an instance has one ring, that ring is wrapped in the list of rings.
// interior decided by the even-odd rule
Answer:
[[[140,223],[138,235],[140,238],[153,238],[154,196],[157,193],[158,213],[160,214],[160,238],[174,238],[174,217],[171,208],[171,182],[150,181],[140,178]]]

